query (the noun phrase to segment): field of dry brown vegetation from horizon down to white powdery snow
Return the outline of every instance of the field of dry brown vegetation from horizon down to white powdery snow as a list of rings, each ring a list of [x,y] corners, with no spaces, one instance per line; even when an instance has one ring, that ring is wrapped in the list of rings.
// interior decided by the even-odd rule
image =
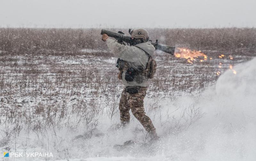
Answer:
[[[128,33],[127,29],[122,31]],[[146,96],[149,115],[161,108],[161,100],[175,99],[184,93],[196,96],[214,84],[216,71],[224,72],[229,64],[256,56],[255,28],[156,28],[148,32],[153,41],[201,50],[212,57],[190,64],[186,59],[156,51],[157,73]],[[220,54],[232,55],[234,59],[220,59]],[[1,149],[49,150],[46,145],[51,138],[56,156],[68,158],[71,154],[61,146],[59,135],[63,128],[76,131],[82,127],[85,138],[104,135],[98,128],[99,119],[103,115],[110,120],[119,117],[123,86],[116,78],[115,63],[116,58],[101,40],[100,29],[1,28]],[[190,122],[170,117],[169,132],[176,135],[202,116],[197,109],[190,113]]]

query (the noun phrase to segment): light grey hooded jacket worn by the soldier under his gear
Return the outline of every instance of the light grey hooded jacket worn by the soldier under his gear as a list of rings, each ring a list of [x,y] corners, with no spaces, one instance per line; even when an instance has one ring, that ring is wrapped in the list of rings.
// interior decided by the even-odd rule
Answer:
[[[138,66],[142,66],[143,69],[146,69],[149,57],[145,53],[145,51],[151,56],[153,56],[154,51],[155,51],[155,47],[150,42],[140,43],[135,46],[122,45],[113,39],[108,39],[106,42],[107,42],[108,48],[114,53],[115,57],[128,62],[129,67],[132,67],[135,69],[138,69]],[[137,48],[137,47],[139,47],[139,48]],[[145,51],[143,51],[142,49]],[[126,72],[126,70],[124,70],[123,75],[122,75],[122,82],[123,82],[124,86],[126,86],[126,87],[127,86],[135,86],[135,85],[141,86],[141,87],[148,86],[149,80],[146,79],[144,76],[143,76],[142,83],[137,83],[136,81],[127,82],[124,79],[125,72]]]

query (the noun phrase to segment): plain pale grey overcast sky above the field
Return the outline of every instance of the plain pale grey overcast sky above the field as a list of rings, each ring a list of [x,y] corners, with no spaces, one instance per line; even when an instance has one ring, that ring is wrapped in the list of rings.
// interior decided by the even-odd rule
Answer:
[[[256,0],[0,0],[0,27],[256,27]]]

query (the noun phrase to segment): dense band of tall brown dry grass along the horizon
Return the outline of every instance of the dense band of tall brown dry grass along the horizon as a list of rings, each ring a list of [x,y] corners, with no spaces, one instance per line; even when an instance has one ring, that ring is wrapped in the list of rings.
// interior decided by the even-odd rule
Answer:
[[[109,29],[128,31],[128,29]],[[148,29],[152,40],[197,50],[255,51],[255,28]],[[128,34],[127,32],[125,32]],[[9,54],[79,54],[80,49],[106,49],[100,29],[0,28],[0,50]],[[60,53],[60,51],[64,53]],[[66,53],[65,53],[66,52]]]

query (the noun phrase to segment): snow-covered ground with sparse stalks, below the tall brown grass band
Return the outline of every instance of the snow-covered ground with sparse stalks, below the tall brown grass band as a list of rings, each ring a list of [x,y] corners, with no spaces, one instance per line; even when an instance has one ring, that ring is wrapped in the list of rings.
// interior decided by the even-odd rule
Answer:
[[[213,59],[189,64],[156,53],[157,75],[144,101],[161,139],[148,145],[134,117],[129,127],[116,128],[123,88],[116,79],[116,58],[86,51],[76,56],[1,55],[2,153],[53,154],[15,160],[256,159],[255,54],[230,60],[218,54],[232,53],[204,51]],[[235,65],[236,75],[229,64]],[[127,140],[138,143],[113,148]]]

